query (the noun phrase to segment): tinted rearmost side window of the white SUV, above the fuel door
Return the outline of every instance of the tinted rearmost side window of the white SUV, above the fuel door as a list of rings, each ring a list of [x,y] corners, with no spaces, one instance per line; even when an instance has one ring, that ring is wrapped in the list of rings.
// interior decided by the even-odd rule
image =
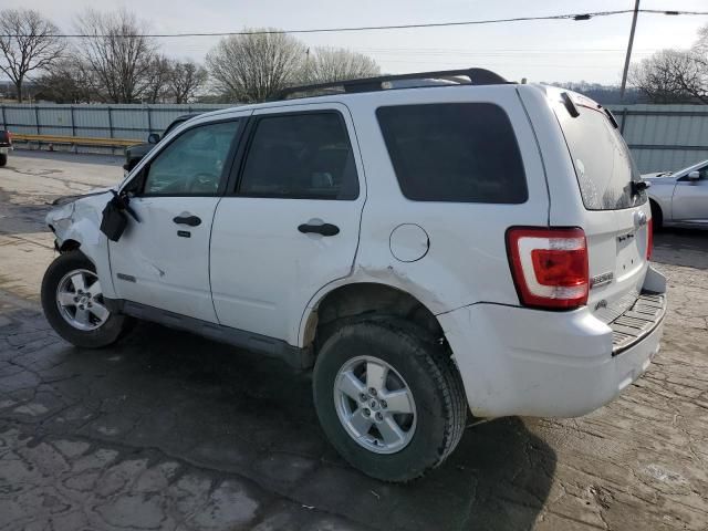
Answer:
[[[403,195],[415,201],[519,204],[527,180],[509,117],[491,103],[376,111]]]

